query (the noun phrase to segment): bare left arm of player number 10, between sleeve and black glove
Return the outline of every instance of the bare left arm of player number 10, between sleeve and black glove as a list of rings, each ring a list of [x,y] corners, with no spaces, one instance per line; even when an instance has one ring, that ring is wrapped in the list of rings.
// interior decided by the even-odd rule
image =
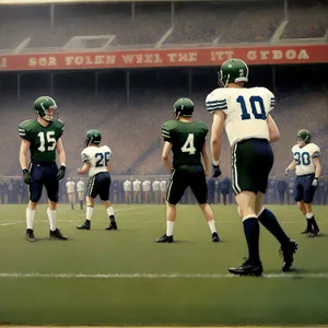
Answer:
[[[213,165],[219,165],[222,148],[222,132],[224,128],[225,114],[221,110],[213,113],[212,134],[211,134],[211,152]]]

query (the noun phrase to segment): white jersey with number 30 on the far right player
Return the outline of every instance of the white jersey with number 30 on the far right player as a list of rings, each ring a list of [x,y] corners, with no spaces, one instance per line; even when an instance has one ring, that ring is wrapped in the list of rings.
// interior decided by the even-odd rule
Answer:
[[[315,143],[307,143],[304,147],[295,144],[292,148],[292,153],[296,164],[296,175],[314,174],[316,166],[313,159],[321,155],[320,149]]]

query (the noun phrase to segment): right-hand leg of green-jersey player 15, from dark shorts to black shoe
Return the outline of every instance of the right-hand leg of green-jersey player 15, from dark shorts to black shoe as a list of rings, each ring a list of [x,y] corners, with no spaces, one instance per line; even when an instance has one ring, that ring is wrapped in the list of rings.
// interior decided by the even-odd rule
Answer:
[[[46,166],[44,177],[43,177],[45,180],[45,188],[48,195],[47,214],[48,214],[49,225],[50,225],[49,236],[50,238],[67,241],[68,237],[65,236],[57,227],[57,203],[58,203],[58,190],[59,190],[57,172],[58,168],[56,165]]]

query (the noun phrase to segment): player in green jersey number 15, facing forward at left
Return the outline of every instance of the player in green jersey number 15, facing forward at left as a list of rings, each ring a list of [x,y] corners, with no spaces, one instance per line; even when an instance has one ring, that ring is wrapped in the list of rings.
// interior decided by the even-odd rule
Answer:
[[[34,109],[37,118],[25,120],[19,127],[19,134],[22,138],[20,163],[24,183],[30,187],[26,238],[28,242],[35,242],[33,231],[35,209],[45,186],[48,195],[49,236],[66,241],[67,236],[62,235],[56,223],[59,180],[65,177],[66,173],[66,153],[61,141],[65,125],[58,120],[56,102],[49,96],[38,97],[34,103]],[[59,168],[56,164],[56,152],[60,162]]]

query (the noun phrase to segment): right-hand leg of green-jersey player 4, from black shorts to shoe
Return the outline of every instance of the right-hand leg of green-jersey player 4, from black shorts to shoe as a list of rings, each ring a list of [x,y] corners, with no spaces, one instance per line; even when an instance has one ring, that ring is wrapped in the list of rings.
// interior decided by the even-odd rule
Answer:
[[[215,226],[214,214],[208,203],[208,185],[203,168],[199,167],[199,171],[189,172],[188,180],[190,189],[202,211],[206,221],[209,224],[212,234],[212,242],[219,243],[220,237]]]

